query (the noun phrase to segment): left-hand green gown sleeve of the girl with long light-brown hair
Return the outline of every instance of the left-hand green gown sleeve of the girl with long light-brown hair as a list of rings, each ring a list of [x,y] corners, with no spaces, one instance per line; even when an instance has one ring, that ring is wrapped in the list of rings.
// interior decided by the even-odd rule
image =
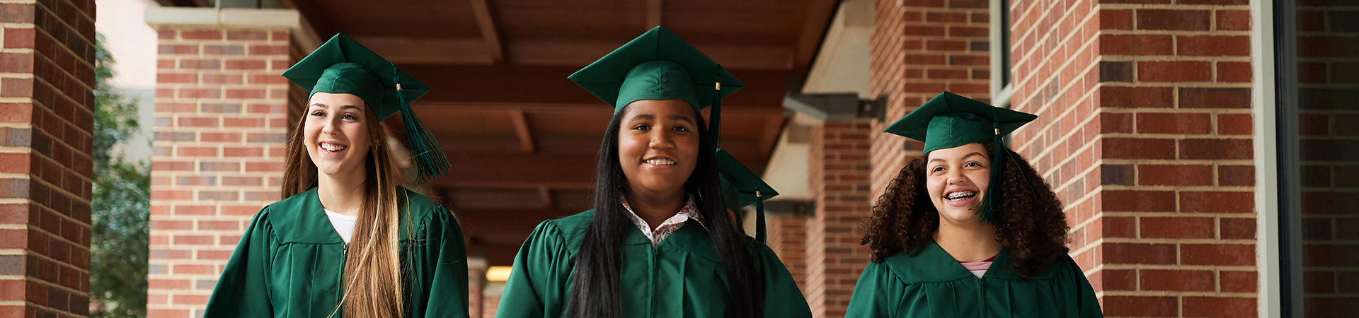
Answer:
[[[269,207],[265,207],[250,220],[236,250],[227,260],[202,317],[273,317],[273,304],[269,303],[272,258],[273,226],[269,223]]]

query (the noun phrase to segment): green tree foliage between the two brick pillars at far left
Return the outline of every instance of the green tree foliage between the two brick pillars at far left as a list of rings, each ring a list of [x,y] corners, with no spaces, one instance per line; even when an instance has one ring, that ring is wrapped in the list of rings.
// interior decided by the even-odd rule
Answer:
[[[113,152],[140,130],[137,105],[109,87],[113,57],[95,35],[94,198],[90,201],[90,317],[147,315],[151,164]]]

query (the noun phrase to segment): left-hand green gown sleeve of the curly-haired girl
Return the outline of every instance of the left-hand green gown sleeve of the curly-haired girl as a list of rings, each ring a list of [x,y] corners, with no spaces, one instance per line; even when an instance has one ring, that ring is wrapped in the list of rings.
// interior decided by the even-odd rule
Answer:
[[[868,262],[868,266],[859,275],[855,283],[853,295],[849,296],[849,307],[845,318],[889,318],[897,306],[894,291],[901,283],[896,280],[892,269],[885,262]]]

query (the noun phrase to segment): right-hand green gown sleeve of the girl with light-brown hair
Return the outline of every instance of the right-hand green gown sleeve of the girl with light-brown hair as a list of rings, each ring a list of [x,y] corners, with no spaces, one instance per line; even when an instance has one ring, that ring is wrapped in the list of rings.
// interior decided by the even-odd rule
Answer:
[[[462,227],[447,208],[435,207],[412,242],[416,275],[410,287],[410,317],[467,317],[467,251]],[[424,295],[421,295],[424,294]]]

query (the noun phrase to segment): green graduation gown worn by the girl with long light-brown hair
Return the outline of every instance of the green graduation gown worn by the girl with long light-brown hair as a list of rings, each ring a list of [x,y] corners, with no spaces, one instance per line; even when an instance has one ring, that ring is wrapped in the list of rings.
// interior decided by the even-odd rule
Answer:
[[[412,242],[402,215],[406,317],[467,317],[467,257],[458,220],[419,193],[397,193],[416,231]],[[204,317],[328,317],[340,303],[347,247],[315,188],[270,204],[236,243]]]

